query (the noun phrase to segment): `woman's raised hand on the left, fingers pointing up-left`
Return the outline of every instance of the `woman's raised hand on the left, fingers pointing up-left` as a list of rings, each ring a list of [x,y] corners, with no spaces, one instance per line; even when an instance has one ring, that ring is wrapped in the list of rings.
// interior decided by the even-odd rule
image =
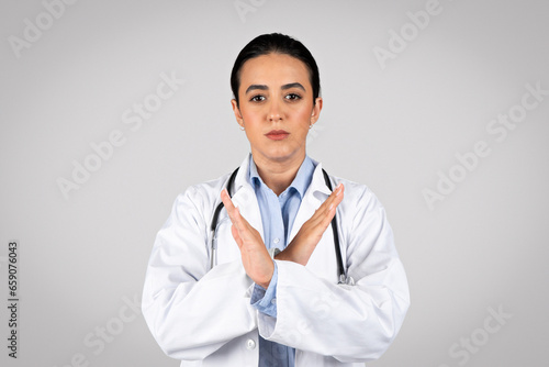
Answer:
[[[274,264],[269,256],[261,235],[240,215],[240,211],[231,201],[226,189],[221,191],[221,200],[233,223],[231,232],[240,249],[242,263],[246,274],[256,285],[267,289],[274,271]]]

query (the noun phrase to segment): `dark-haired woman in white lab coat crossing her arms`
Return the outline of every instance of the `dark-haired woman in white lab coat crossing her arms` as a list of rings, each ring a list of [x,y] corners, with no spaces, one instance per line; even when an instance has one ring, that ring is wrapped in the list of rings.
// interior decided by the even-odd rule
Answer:
[[[396,336],[408,288],[373,193],[306,155],[323,104],[316,63],[289,36],[260,35],[231,86],[251,154],[232,179],[176,200],[148,264],[147,324],[181,366],[363,366]]]

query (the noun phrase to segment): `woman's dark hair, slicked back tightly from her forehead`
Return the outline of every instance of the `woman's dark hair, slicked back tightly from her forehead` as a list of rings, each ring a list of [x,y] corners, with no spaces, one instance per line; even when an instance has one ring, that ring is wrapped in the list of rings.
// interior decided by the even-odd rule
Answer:
[[[240,87],[240,69],[247,60],[268,54],[282,54],[295,57],[309,69],[309,80],[313,86],[313,103],[321,93],[321,76],[311,52],[298,40],[285,34],[261,34],[251,40],[238,54],[231,73],[231,89],[238,105],[238,88]]]

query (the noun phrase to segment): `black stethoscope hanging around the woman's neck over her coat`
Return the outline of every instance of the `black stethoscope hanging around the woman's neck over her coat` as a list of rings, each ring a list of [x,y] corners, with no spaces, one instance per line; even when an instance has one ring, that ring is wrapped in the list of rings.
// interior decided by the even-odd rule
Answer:
[[[231,192],[231,187],[234,184],[234,180],[236,178],[236,174],[237,173],[238,173],[238,168],[236,168],[233,171],[233,174],[231,174],[231,177],[227,180],[226,189],[227,189],[227,193],[228,193],[228,196],[231,198],[233,197],[233,193]],[[322,170],[322,173],[324,175],[324,181],[326,182],[326,186],[328,187],[328,189],[330,191],[333,191],[328,174],[326,174],[326,171],[324,169]],[[211,268],[213,268],[214,265],[217,264],[217,237],[216,237],[216,230],[217,230],[217,221],[219,221],[219,218],[220,218],[220,213],[221,213],[221,211],[222,211],[223,208],[224,208],[223,202],[220,202],[220,204],[217,205],[217,208],[215,208],[215,211],[214,211],[213,218],[212,218],[212,224],[210,226],[210,230],[212,232]],[[343,257],[341,257],[341,248],[339,246],[339,231],[337,229],[337,221],[336,221],[336,216],[335,215],[334,215],[334,219],[332,220],[332,231],[334,233],[334,245],[336,247],[338,283],[346,283],[346,285],[352,286],[355,283],[355,280],[352,279],[352,277],[347,277],[347,275],[345,274],[345,267],[343,265]]]

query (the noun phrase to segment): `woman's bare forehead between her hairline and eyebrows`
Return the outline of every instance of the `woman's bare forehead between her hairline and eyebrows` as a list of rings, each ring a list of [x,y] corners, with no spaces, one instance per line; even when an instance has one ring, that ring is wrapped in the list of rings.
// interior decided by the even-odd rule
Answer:
[[[240,69],[242,87],[253,84],[276,86],[289,82],[301,82],[305,88],[311,86],[305,64],[290,55],[261,55],[244,63]]]

